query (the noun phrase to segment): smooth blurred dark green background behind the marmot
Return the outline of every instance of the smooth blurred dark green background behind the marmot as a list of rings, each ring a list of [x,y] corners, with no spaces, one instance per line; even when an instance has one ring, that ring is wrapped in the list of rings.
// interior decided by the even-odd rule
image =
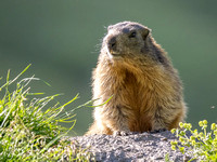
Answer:
[[[36,75],[52,85],[35,82],[34,92],[64,93],[58,98],[62,104],[79,93],[67,109],[77,107],[91,99],[91,71],[105,27],[135,21],[152,29],[179,70],[189,106],[187,121],[216,122],[216,6],[214,0],[1,0],[0,77],[5,80],[11,69],[13,78],[33,64],[24,77]],[[92,122],[91,111],[76,111],[78,135]]]

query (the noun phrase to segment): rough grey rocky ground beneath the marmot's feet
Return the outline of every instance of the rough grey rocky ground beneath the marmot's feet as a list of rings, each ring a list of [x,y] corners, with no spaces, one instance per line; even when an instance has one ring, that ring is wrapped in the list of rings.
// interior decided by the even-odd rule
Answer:
[[[163,162],[168,156],[169,162],[188,161],[189,157],[170,149],[176,137],[169,132],[131,134],[128,136],[92,135],[71,137],[81,148],[95,156],[99,162]]]

